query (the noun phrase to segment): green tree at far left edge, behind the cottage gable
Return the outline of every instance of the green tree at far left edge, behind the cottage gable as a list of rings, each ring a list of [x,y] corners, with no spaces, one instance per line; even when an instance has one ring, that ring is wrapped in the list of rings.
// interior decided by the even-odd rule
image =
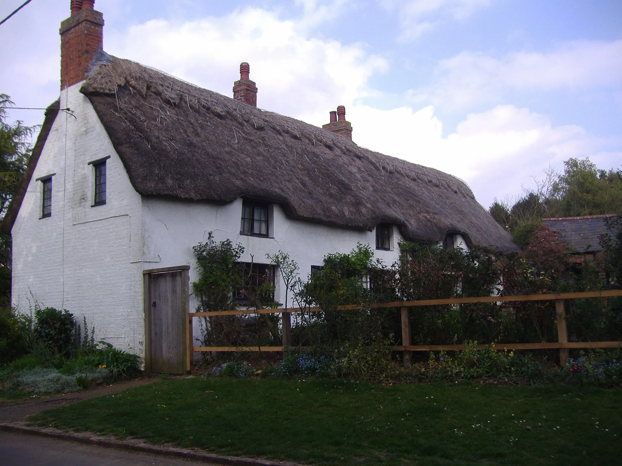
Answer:
[[[6,122],[7,109],[13,103],[9,96],[0,94],[0,220],[11,203],[17,185],[26,172],[32,144],[30,137],[38,126],[24,126],[21,121]],[[0,262],[11,263],[11,237],[0,234]]]

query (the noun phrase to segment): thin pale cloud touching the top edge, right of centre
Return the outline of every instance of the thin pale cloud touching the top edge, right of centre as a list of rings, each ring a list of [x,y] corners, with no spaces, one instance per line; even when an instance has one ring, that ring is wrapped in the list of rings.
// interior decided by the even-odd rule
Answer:
[[[492,0],[379,0],[388,11],[397,11],[401,41],[417,39],[442,21],[462,21]]]

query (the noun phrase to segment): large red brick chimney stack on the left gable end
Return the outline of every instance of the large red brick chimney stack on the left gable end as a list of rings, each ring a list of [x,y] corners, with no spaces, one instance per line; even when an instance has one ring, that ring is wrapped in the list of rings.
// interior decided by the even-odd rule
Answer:
[[[104,16],[95,0],[71,0],[72,16],[60,23],[60,88],[86,79],[98,52],[103,51]]]

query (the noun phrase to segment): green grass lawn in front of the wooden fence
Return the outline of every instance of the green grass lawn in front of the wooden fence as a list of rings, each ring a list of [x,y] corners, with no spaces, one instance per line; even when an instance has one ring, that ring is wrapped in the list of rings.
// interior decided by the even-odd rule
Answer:
[[[195,377],[31,419],[318,465],[622,464],[622,390],[560,385]]]

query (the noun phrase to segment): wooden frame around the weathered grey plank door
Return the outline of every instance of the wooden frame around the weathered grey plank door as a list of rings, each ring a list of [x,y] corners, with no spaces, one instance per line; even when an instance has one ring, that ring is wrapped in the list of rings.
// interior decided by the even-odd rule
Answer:
[[[182,272],[182,309],[183,313],[179,316],[182,319],[182,358],[183,358],[183,372],[185,373],[185,368],[188,367],[188,355],[186,351],[186,347],[188,345],[187,335],[188,335],[188,319],[187,315],[190,312],[190,265],[177,265],[175,267],[160,267],[160,268],[149,268],[147,270],[142,271],[142,312],[143,318],[145,322],[145,374],[149,375],[151,373],[151,319],[149,318],[149,311],[151,310],[149,306],[149,276],[152,273],[165,273],[165,272]]]

